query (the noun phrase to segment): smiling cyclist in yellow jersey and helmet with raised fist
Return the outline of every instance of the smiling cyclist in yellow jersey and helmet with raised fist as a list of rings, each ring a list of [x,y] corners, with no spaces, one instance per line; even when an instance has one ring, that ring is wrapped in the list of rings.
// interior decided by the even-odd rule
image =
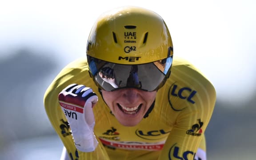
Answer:
[[[206,160],[215,101],[200,70],[173,56],[161,16],[131,6],[99,17],[87,57],[68,64],[44,95],[61,160]]]

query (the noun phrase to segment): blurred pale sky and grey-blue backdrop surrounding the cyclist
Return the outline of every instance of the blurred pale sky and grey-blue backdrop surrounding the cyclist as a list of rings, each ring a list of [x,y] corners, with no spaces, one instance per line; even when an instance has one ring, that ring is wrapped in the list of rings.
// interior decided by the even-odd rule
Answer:
[[[174,56],[190,60],[215,85],[208,160],[255,159],[256,1],[0,0],[0,160],[60,158],[44,92],[61,68],[85,56],[96,18],[124,5],[160,14]]]

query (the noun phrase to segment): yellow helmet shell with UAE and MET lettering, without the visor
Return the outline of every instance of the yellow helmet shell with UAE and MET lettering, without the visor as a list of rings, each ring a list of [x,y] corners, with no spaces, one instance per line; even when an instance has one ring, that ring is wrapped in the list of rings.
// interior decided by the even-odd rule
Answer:
[[[145,64],[172,56],[172,39],[164,20],[139,7],[104,13],[93,25],[87,55],[116,64]]]

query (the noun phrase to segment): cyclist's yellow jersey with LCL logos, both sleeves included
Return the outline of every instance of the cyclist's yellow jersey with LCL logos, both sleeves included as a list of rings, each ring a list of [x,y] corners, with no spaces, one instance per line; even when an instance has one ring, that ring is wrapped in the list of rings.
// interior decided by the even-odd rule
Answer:
[[[58,94],[69,84],[84,84],[99,97],[93,107],[94,152],[76,150]],[[53,128],[71,160],[193,160],[205,150],[204,132],[212,116],[216,92],[207,78],[188,61],[175,57],[171,76],[157,91],[148,117],[134,127],[122,126],[112,115],[88,73],[86,59],[68,64],[48,87],[44,105]],[[200,144],[201,142],[201,144]]]

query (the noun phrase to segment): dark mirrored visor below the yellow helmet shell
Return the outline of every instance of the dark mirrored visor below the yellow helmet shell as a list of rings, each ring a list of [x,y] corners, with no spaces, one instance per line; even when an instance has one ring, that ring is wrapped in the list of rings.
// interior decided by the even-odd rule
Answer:
[[[164,85],[172,66],[172,56],[148,64],[115,64],[88,56],[93,80],[105,91],[137,88],[148,92]]]

